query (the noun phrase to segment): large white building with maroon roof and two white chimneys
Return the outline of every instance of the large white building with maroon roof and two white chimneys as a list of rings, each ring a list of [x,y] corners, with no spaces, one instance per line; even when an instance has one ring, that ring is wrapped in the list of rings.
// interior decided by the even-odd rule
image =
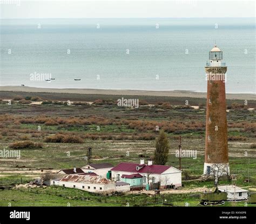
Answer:
[[[113,181],[120,181],[123,174],[140,174],[143,176],[142,185],[160,182],[161,188],[181,187],[181,171],[172,166],[153,165],[152,161],[144,164],[144,160],[140,160],[140,164],[130,162],[122,162],[111,169],[111,178]]]

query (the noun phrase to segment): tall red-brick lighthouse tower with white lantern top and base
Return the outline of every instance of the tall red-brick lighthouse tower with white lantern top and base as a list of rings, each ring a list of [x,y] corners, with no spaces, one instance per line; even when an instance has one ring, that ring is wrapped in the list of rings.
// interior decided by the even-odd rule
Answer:
[[[212,169],[218,175],[229,174],[227,148],[227,117],[225,73],[226,64],[222,62],[223,52],[215,45],[209,52],[206,63],[207,76],[207,110],[205,136],[204,174],[210,175]]]

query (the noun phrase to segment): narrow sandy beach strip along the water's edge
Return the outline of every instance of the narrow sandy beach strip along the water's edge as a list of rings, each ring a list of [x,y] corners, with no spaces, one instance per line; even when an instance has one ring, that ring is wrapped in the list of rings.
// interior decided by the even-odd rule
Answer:
[[[185,91],[185,90],[149,91],[149,90],[103,90],[103,89],[49,89],[49,88],[37,88],[37,87],[29,87],[29,86],[1,86],[0,91],[206,98],[206,92],[193,92],[193,91]],[[249,93],[227,93],[226,99],[256,100],[256,97],[255,97],[255,94],[249,94]]]

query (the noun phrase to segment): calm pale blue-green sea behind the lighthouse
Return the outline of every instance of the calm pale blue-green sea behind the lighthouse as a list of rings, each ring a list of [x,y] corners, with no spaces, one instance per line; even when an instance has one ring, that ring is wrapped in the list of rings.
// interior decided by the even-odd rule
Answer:
[[[226,92],[255,93],[255,18],[0,19],[0,34],[0,86],[206,92],[216,43]]]

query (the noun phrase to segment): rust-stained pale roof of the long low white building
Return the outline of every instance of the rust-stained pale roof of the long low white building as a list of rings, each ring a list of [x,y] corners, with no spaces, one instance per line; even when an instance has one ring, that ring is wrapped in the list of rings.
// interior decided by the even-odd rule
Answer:
[[[84,184],[114,184],[112,180],[108,180],[106,178],[102,178],[99,176],[91,176],[91,175],[66,175],[59,181],[67,181],[67,182],[79,182]]]

